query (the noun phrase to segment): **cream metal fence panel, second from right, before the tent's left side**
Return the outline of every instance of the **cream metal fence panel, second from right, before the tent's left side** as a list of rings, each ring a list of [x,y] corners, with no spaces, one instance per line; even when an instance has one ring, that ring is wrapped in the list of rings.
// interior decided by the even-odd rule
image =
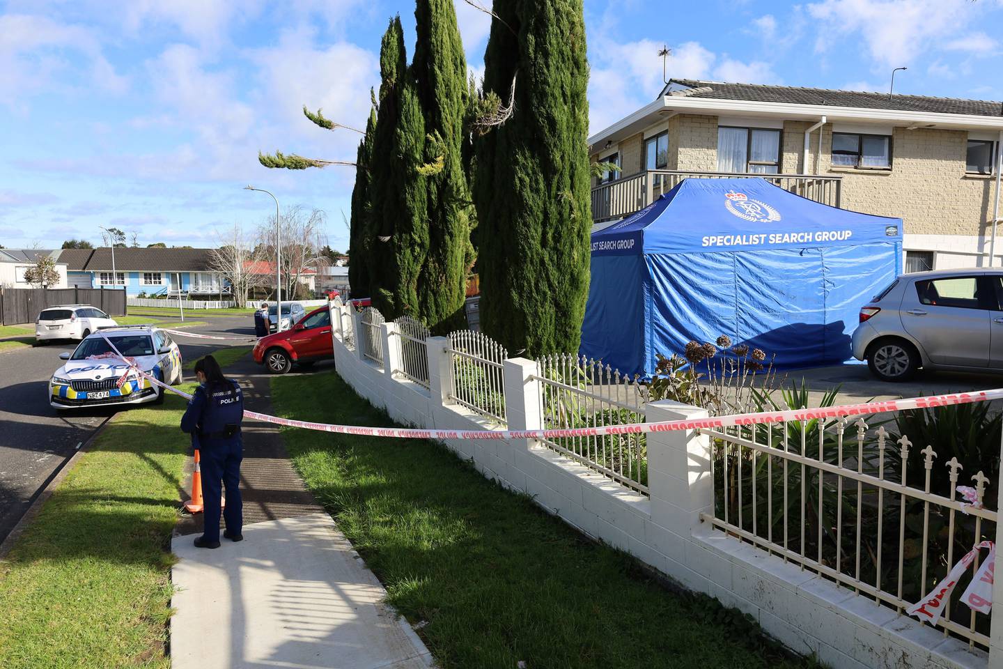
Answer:
[[[571,354],[537,360],[545,429],[598,427],[644,422],[645,398],[630,379],[601,361]],[[545,439],[543,443],[613,480],[648,493],[644,434],[609,434]]]

